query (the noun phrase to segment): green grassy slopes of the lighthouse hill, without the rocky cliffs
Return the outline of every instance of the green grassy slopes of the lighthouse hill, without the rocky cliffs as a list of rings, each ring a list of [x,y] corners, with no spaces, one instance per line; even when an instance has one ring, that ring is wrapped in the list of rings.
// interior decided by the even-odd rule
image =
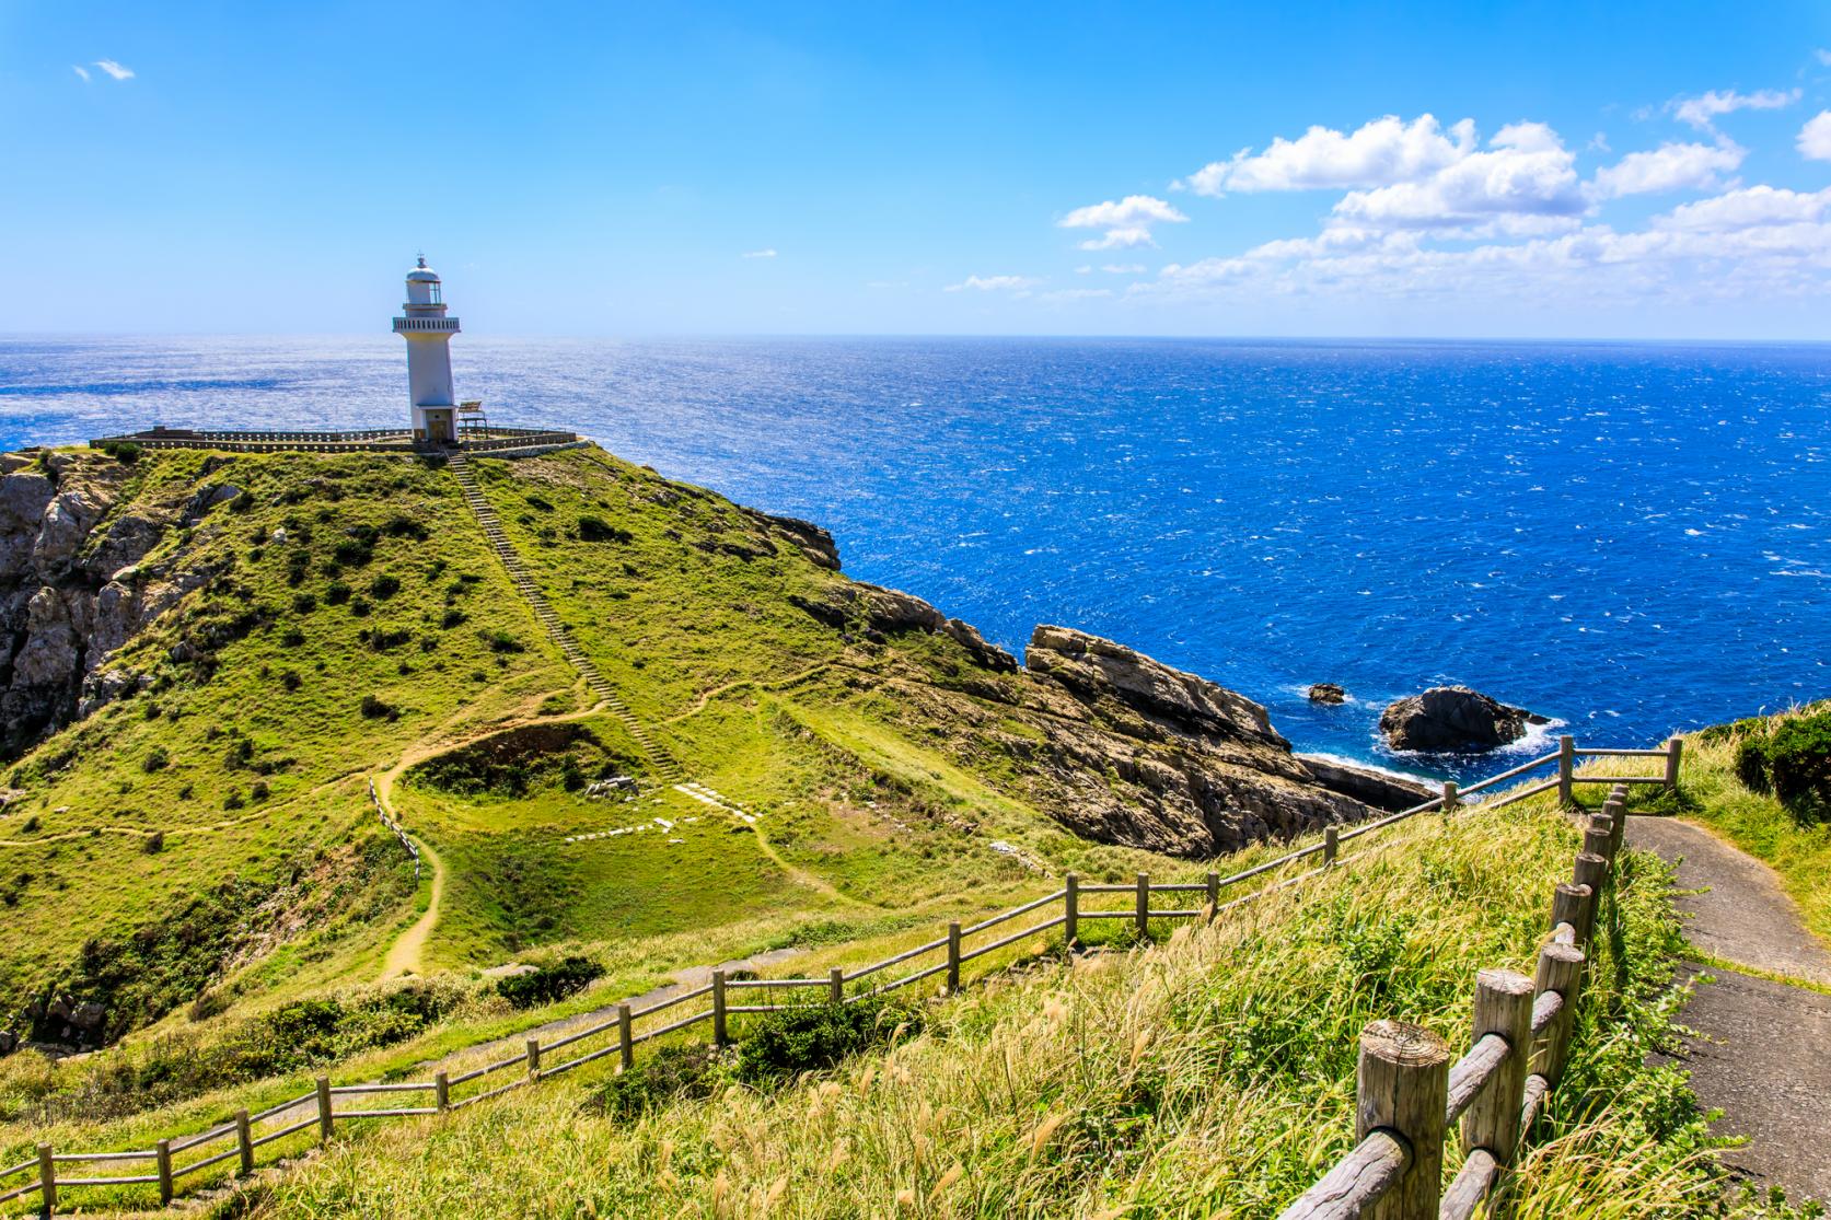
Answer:
[[[143,564],[205,577],[110,659],[150,689],[9,768],[24,795],[0,815],[0,1020],[51,986],[104,1002],[114,1035],[205,989],[236,1013],[374,976],[425,885],[374,819],[372,775],[395,773],[397,810],[450,870],[430,969],[582,947],[646,962],[621,975],[634,984],[925,905],[996,907],[1046,872],[1174,868],[1051,817],[1071,793],[1036,718],[1078,703],[1038,705],[1038,683],[945,636],[798,608],[855,586],[793,529],[601,451],[476,467],[599,667],[754,832],[668,790],[591,799],[538,746],[507,788],[449,782],[441,755],[531,722],[590,735],[586,779],[645,779],[449,471],[148,452],[97,537],[126,513],[176,517],[200,487],[245,495]],[[624,824],[648,830],[579,841]]]

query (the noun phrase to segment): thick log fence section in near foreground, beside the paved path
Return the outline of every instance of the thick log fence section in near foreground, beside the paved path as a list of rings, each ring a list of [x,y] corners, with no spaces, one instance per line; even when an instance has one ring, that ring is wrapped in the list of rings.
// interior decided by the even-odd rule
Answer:
[[[1677,758],[1677,742],[1670,757]],[[1454,1064],[1448,1042],[1423,1026],[1370,1024],[1355,1081],[1360,1143],[1280,1220],[1468,1220],[1492,1193],[1569,1053],[1597,907],[1628,826],[1633,780],[1606,782],[1617,788],[1584,826],[1571,881],[1553,892],[1536,978],[1498,969],[1476,975],[1468,1051]],[[1443,1189],[1452,1123],[1461,1123],[1468,1152]]]

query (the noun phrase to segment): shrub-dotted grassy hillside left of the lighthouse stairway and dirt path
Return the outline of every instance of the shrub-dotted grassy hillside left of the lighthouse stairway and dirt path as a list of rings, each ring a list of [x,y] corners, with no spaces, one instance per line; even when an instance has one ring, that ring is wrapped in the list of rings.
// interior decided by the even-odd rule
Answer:
[[[238,965],[256,991],[357,969],[410,907],[363,777],[571,681],[443,471],[146,454],[115,515],[207,482],[247,496],[146,564],[214,575],[110,663],[152,689],[11,769],[0,995],[68,978],[86,943],[88,975],[152,980],[154,1006]]]

